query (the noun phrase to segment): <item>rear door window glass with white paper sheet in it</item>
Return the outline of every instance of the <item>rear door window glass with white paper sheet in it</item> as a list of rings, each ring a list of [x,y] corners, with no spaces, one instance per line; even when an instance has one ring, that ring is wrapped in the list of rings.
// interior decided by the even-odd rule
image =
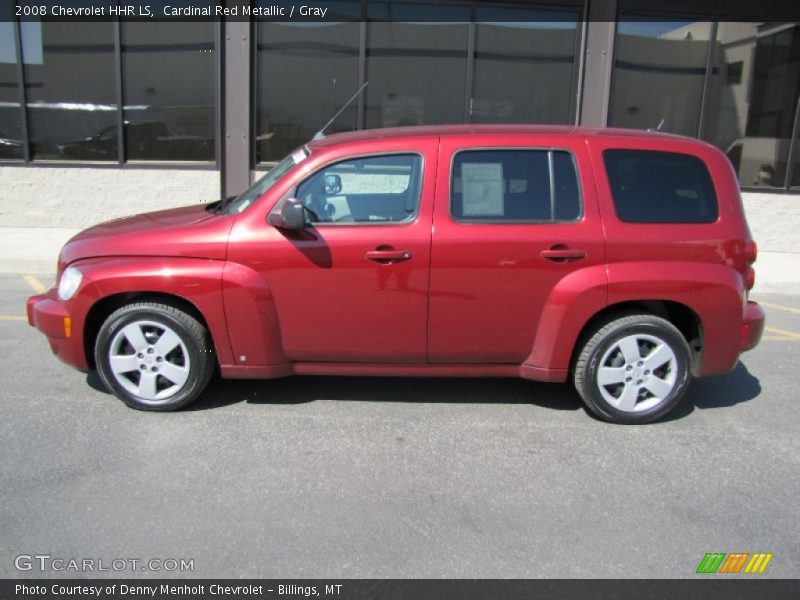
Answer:
[[[563,150],[469,150],[456,154],[450,213],[461,222],[575,221],[575,163]]]

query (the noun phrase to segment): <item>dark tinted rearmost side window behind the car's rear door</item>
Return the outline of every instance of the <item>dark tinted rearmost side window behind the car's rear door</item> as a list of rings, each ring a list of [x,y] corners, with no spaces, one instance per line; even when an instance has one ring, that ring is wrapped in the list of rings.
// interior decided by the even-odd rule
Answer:
[[[603,161],[614,207],[626,223],[711,223],[717,197],[696,156],[649,150],[606,150]]]

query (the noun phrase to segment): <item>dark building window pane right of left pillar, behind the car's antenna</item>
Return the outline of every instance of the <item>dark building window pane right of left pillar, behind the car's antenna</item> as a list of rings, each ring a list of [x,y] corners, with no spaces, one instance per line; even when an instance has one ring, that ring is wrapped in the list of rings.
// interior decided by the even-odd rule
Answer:
[[[352,19],[358,2],[335,3]],[[279,159],[311,137],[358,89],[359,23],[259,22],[256,161]],[[326,133],[356,128],[358,103],[339,115]]]

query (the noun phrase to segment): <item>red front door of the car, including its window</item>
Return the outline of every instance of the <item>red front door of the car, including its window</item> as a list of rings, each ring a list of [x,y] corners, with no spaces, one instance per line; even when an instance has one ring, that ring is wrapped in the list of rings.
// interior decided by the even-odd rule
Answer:
[[[338,160],[296,187],[308,227],[274,230],[257,267],[291,360],[425,362],[435,148]]]

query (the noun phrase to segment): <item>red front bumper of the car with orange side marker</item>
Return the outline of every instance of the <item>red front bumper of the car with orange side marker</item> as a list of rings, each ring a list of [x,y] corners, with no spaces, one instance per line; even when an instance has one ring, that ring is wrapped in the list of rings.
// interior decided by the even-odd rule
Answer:
[[[81,370],[88,369],[83,336],[76,335],[77,324],[73,323],[64,303],[58,300],[55,289],[28,298],[27,312],[28,323],[47,336],[50,349],[59,360]]]

